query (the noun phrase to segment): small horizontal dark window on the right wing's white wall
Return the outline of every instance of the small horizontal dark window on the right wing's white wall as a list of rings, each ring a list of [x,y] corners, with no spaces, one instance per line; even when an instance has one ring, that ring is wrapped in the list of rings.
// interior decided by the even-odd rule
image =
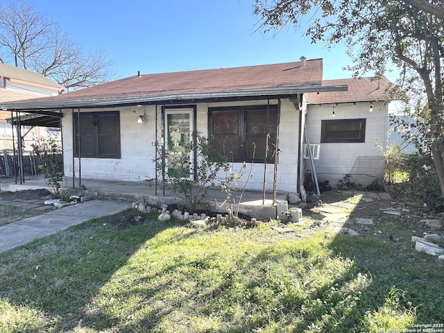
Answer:
[[[321,122],[321,143],[365,142],[366,119],[323,120]]]

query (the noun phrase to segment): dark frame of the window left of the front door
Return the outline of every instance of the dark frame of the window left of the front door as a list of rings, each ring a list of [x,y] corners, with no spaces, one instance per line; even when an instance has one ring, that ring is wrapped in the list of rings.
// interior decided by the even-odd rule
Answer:
[[[78,117],[93,117],[93,144],[94,144],[94,153],[81,153],[79,154],[78,147],[78,134],[76,127],[76,119]],[[110,153],[99,153],[99,119],[101,116],[114,116],[116,119],[116,133],[117,136],[117,153],[116,154],[110,154]],[[77,120],[78,121],[78,120]],[[121,159],[121,133],[120,133],[120,111],[106,111],[106,112],[73,112],[73,154],[74,157],[85,157],[85,158],[110,158],[110,159]],[[95,124],[94,124],[95,123]],[[80,128],[81,133],[81,128]],[[80,135],[81,138],[81,135]],[[79,156],[80,155],[80,156]]]

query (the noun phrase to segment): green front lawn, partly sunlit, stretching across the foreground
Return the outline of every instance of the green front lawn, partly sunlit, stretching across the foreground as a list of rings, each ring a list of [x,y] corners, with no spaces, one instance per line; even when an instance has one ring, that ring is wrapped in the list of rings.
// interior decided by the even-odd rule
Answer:
[[[0,255],[0,332],[383,332],[444,323],[436,258],[319,228],[96,219]]]

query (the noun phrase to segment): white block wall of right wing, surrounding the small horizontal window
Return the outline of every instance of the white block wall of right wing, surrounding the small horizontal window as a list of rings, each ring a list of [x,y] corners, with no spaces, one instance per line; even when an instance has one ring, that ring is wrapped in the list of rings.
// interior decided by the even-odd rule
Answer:
[[[366,119],[365,142],[323,143],[319,160],[314,161],[318,180],[329,180],[336,187],[345,174],[350,173],[357,157],[381,156],[379,146],[386,145],[387,108],[382,102],[373,103],[373,112],[369,112],[370,103],[346,103],[341,105],[309,105],[307,108],[307,132],[311,144],[321,144],[321,121],[332,119]],[[335,117],[332,117],[332,112]],[[305,169],[311,169],[305,160]]]

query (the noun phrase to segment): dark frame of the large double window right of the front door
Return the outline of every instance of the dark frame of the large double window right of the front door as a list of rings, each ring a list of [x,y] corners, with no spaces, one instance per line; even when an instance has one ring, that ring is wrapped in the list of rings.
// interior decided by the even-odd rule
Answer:
[[[279,105],[266,105],[266,104],[260,104],[260,105],[234,105],[234,106],[220,106],[220,107],[214,107],[214,108],[208,108],[208,133],[210,133],[210,142],[213,142],[213,114],[214,112],[239,112],[239,158],[233,159],[233,162],[253,162],[253,158],[246,157],[247,154],[247,112],[248,111],[266,111],[268,108],[269,111],[276,112],[276,121],[279,122],[279,112],[280,108]],[[273,133],[275,136],[277,136],[278,133],[278,127],[279,123],[276,123],[275,126],[275,133]],[[276,137],[274,138],[276,139]],[[264,163],[264,157],[255,157],[254,159],[255,163]],[[275,154],[273,156],[268,156],[266,159],[267,163],[274,163],[275,162]]]

